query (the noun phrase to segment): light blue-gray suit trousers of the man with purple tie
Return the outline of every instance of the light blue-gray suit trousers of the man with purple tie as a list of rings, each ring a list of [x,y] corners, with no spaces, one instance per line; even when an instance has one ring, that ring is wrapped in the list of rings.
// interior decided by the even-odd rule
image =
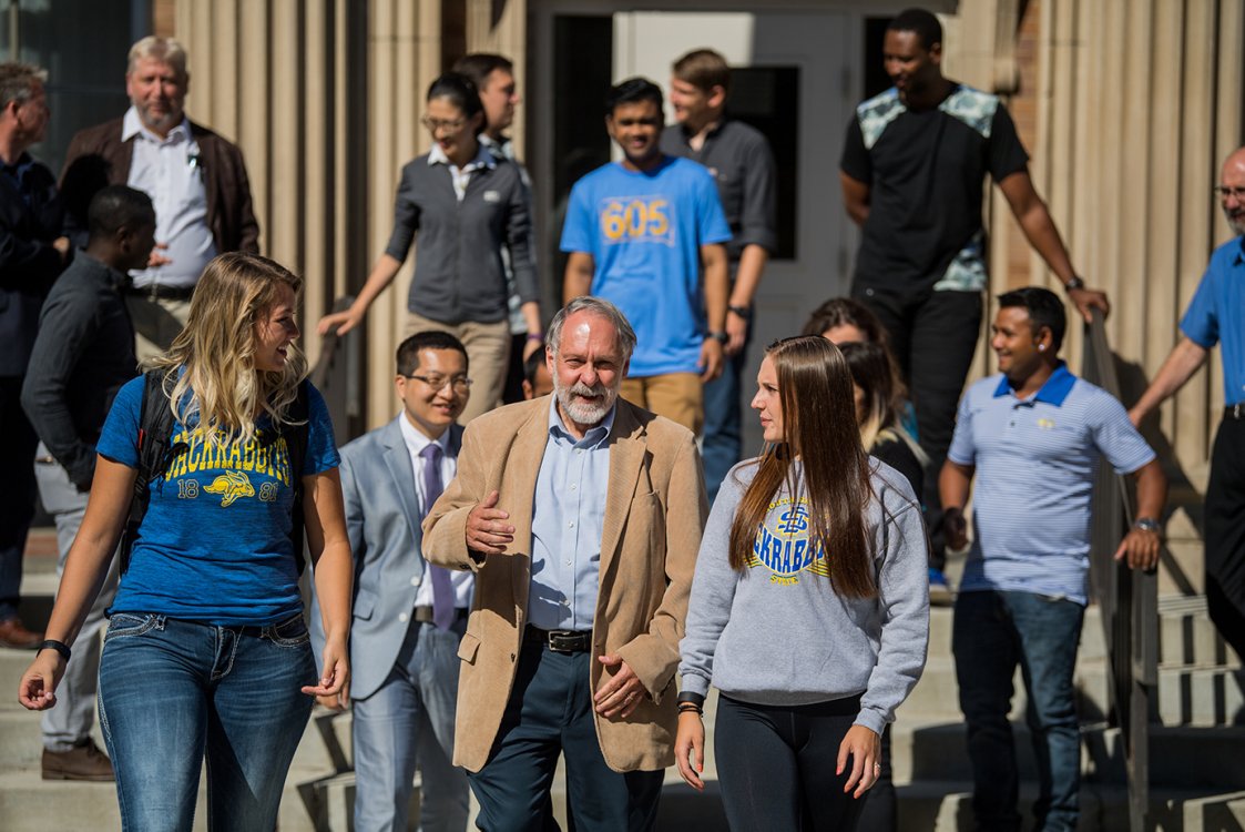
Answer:
[[[422,832],[463,832],[471,806],[467,772],[453,766],[458,643],[467,619],[448,630],[412,623],[388,679],[356,699],[355,830],[407,828],[418,756]]]

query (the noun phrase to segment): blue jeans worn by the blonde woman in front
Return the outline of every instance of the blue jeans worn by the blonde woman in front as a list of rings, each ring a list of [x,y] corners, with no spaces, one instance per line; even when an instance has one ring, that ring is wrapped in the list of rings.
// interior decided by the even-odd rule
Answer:
[[[208,762],[208,828],[271,832],[315,684],[301,615],[214,626],[116,613],[100,660],[100,724],[125,832],[189,831]]]

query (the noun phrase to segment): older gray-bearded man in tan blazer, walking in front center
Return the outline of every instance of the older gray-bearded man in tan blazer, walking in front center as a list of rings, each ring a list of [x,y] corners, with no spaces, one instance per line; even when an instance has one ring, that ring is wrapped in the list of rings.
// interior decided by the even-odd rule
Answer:
[[[543,828],[559,752],[574,827],[656,820],[706,501],[692,433],[618,399],[634,346],[613,304],[570,301],[554,395],[472,421],[423,524],[428,560],[476,570],[454,762],[483,830]]]

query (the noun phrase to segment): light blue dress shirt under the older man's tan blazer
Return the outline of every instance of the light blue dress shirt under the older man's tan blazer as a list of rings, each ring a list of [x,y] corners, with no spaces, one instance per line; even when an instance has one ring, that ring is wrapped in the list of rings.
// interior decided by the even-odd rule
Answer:
[[[528,623],[543,630],[591,630],[618,407],[576,441],[557,401],[549,397],[549,438],[532,498]]]

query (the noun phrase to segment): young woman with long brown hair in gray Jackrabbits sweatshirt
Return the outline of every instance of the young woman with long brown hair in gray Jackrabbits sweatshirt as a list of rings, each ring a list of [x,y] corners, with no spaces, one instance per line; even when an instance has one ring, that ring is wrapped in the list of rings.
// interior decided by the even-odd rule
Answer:
[[[727,476],[705,529],[675,755],[702,788],[712,683],[731,828],[852,830],[883,727],[925,666],[925,528],[904,477],[862,448],[829,341],[772,345],[757,386],[766,452]]]

